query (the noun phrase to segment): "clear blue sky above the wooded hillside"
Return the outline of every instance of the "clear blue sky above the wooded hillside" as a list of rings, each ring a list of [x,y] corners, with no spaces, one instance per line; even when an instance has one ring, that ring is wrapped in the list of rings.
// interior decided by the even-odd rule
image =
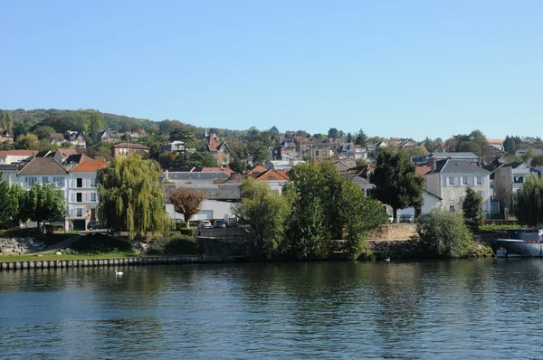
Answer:
[[[0,109],[543,137],[543,1],[5,1]]]

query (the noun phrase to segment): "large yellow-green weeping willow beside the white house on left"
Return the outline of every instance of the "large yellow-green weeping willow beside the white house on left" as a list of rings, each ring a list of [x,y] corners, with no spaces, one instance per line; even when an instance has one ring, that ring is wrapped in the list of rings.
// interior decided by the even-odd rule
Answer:
[[[128,231],[130,239],[164,232],[170,223],[156,161],[138,154],[114,158],[97,175],[99,217],[109,229]]]

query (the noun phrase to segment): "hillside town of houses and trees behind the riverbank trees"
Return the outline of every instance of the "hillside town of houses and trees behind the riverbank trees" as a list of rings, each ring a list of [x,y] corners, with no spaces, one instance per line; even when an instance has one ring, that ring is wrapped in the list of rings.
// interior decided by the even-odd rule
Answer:
[[[543,172],[538,137],[489,139],[479,130],[446,140],[368,137],[363,130],[328,134],[197,128],[176,120],[153,123],[101,114],[96,110],[0,111],[2,181],[25,190],[52,184],[62,191],[66,229],[87,230],[99,222],[97,172],[110,160],[137,153],[157,161],[165,194],[180,187],[199,189],[205,201],[193,220],[228,219],[240,201],[243,179],[253,177],[281,194],[293,166],[332,162],[339,174],[366,194],[384,149],[405,152],[424,177],[424,205],[400,209],[406,221],[433,209],[458,213],[468,187],[482,199],[486,218],[512,216],[513,195],[528,175]],[[167,213],[180,220],[167,199]],[[392,214],[390,208],[388,213]],[[396,219],[399,220],[399,219]]]

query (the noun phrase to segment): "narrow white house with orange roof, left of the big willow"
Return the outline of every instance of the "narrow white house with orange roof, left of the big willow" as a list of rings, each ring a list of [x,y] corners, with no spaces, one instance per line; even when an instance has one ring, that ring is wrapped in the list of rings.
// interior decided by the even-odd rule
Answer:
[[[97,221],[98,187],[96,175],[98,170],[107,167],[105,161],[82,161],[71,169],[68,180],[68,218],[73,230],[87,230],[89,222]]]

